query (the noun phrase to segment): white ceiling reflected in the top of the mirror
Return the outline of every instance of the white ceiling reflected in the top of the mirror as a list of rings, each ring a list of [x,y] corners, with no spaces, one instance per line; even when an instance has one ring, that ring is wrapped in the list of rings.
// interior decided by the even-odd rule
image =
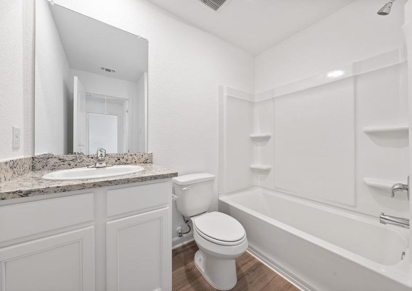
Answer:
[[[49,7],[71,68],[132,82],[147,72],[146,39],[56,4]]]

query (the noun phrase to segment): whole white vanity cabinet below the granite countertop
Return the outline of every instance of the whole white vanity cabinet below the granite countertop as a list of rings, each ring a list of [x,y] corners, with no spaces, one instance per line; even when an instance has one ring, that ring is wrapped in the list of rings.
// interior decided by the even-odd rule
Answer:
[[[170,291],[169,179],[0,201],[1,291]]]

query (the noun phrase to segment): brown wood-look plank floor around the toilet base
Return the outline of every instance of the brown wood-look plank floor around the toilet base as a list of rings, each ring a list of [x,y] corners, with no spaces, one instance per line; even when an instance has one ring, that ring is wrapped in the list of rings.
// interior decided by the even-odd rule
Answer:
[[[173,250],[173,291],[216,290],[203,278],[195,266],[194,257],[198,250],[195,242]],[[280,275],[266,267],[253,256],[245,253],[236,260],[237,291],[299,291]]]

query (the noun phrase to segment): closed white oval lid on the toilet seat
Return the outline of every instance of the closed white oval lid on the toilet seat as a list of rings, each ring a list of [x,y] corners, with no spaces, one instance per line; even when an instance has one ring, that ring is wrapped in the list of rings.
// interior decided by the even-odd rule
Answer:
[[[205,213],[193,224],[204,235],[222,242],[237,242],[245,235],[245,228],[233,217],[222,212]]]

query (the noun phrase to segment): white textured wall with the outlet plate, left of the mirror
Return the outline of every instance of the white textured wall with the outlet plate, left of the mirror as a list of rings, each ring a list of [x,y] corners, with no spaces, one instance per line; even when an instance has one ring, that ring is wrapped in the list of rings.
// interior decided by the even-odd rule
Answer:
[[[33,1],[0,2],[0,160],[33,152]],[[12,149],[12,127],[20,148]]]

